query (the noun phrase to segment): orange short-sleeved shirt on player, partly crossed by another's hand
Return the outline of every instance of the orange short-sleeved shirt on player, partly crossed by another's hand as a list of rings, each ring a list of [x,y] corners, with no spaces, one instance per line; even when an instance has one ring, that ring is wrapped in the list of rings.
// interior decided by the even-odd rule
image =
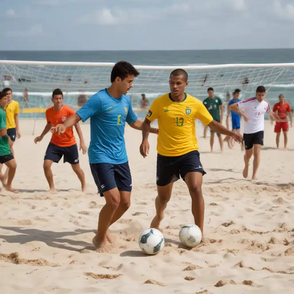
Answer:
[[[55,111],[53,106],[46,110],[47,123],[51,123],[53,127],[59,123],[64,123],[67,118],[72,116],[75,112],[68,106],[63,105],[59,111]],[[60,146],[69,147],[76,144],[73,128],[68,128],[63,134],[53,133],[50,143]]]

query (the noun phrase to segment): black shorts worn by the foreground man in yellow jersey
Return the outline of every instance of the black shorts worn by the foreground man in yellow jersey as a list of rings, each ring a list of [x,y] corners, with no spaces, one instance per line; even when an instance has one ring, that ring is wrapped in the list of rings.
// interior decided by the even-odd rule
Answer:
[[[200,162],[198,151],[191,151],[180,156],[163,156],[157,154],[156,165],[156,185],[166,186],[181,178],[185,181],[185,176],[191,171],[196,171],[205,175]]]

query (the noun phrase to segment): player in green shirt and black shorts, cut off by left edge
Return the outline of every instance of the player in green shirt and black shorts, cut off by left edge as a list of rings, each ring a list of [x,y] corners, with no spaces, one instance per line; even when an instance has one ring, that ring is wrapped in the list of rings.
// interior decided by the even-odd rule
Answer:
[[[16,192],[16,190],[11,187],[16,171],[16,162],[10,149],[12,141],[6,132],[6,112],[4,108],[7,106],[7,98],[7,93],[0,92],[0,181],[7,191]],[[5,163],[8,168],[7,183],[4,183],[4,175],[1,173],[3,163]]]

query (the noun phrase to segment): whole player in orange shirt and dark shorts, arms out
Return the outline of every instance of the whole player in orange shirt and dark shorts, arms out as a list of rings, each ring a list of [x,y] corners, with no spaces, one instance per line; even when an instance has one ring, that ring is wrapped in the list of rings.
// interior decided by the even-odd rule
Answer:
[[[52,93],[52,102],[54,106],[46,110],[46,120],[47,124],[44,131],[40,136],[36,137],[34,142],[40,142],[44,136],[51,130],[52,127],[55,128],[59,123],[63,123],[73,115],[75,112],[68,106],[62,104],[63,93],[60,89],[55,89]],[[83,150],[83,154],[86,153],[87,147],[84,143],[83,134],[80,125],[75,123],[76,132],[80,139],[80,150]],[[53,131],[54,132],[54,131]],[[51,171],[51,165],[53,162],[58,163],[63,156],[64,163],[68,162],[71,164],[72,169],[81,181],[82,191],[86,191],[85,175],[80,168],[79,158],[78,158],[78,146],[76,144],[76,139],[74,137],[73,128],[69,128],[63,134],[53,133],[51,141],[47,147],[45,158],[44,158],[44,172],[46,179],[49,183],[49,191],[56,193],[53,181],[53,173]]]

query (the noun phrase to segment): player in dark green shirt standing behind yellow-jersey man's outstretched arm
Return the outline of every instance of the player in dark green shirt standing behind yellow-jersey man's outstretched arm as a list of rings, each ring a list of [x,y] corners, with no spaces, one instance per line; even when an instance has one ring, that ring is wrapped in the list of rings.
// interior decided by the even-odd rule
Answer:
[[[217,96],[214,96],[213,88],[207,89],[208,97],[203,100],[203,104],[211,114],[212,118],[218,123],[223,122],[223,102]],[[206,138],[207,126],[204,126],[204,138]],[[210,149],[213,152],[213,143],[214,143],[214,133],[212,129],[210,130]],[[218,136],[218,141],[220,142],[220,150],[223,151],[223,139],[219,133],[216,134]]]

